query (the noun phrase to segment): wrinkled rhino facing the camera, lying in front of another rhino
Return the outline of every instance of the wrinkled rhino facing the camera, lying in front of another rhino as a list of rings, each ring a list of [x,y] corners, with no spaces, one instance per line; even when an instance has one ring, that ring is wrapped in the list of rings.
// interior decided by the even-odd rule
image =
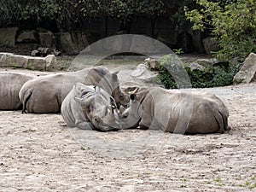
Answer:
[[[105,90],[77,83],[62,102],[61,116],[69,127],[110,131],[119,129],[116,109],[113,97]]]

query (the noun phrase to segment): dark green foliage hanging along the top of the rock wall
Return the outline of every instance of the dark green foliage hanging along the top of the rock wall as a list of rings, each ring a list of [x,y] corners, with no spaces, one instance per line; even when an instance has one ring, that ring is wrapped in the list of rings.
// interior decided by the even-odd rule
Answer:
[[[60,30],[81,26],[84,19],[112,17],[124,22],[133,15],[154,17],[165,12],[161,0],[10,0],[0,2],[0,22],[14,26],[20,22],[39,25],[54,22]]]

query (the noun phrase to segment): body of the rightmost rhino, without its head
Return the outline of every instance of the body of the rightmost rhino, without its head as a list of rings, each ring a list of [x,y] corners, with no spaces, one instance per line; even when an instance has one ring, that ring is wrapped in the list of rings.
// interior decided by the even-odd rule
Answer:
[[[150,118],[147,106],[154,105],[151,126],[164,131],[191,134],[214,133],[223,132],[228,126],[228,109],[215,95],[162,88],[148,89],[148,94],[153,97],[153,100],[151,102],[147,99],[143,100],[142,122],[146,117]]]

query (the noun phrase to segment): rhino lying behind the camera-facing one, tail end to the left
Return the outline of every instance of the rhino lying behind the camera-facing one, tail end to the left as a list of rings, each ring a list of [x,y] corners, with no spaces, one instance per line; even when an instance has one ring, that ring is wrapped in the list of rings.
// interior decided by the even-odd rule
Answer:
[[[98,85],[114,97],[118,106],[127,104],[129,96],[120,90],[117,73],[110,73],[106,67],[92,67],[29,80],[19,93],[22,113],[60,113],[61,102],[77,82]]]

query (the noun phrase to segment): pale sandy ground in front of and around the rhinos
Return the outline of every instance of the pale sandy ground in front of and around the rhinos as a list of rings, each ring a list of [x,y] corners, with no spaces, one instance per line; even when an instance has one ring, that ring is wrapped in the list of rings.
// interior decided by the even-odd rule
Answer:
[[[256,84],[200,91],[224,100],[232,131],[83,131],[0,111],[0,191],[256,191]]]

